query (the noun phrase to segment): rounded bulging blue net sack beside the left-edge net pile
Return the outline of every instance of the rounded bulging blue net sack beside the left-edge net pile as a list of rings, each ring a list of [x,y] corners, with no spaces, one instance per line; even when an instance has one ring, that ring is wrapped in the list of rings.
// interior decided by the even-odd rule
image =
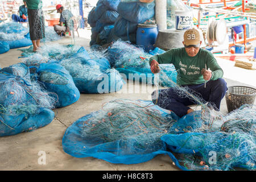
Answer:
[[[56,107],[71,105],[79,100],[80,92],[76,88],[69,72],[56,63],[42,63],[36,72],[38,80],[48,92],[55,93]]]

